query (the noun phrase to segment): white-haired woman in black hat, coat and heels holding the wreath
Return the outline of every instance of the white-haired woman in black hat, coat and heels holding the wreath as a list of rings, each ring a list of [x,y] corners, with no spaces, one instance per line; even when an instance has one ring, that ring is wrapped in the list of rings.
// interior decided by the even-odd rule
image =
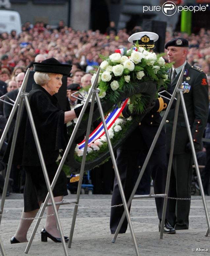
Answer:
[[[64,112],[59,109],[57,98],[54,95],[62,85],[63,75],[69,75],[71,65],[61,64],[56,59],[50,58],[41,63],[34,63],[34,70],[36,71],[34,74],[36,84],[33,84],[28,99],[48,177],[52,183],[58,168],[56,160],[59,149],[64,149],[68,142],[65,124],[78,117],[81,106]],[[9,149],[8,146],[8,151]],[[24,209],[15,236],[11,239],[11,243],[20,243],[27,242],[27,231],[33,221],[27,218],[36,216],[48,192],[25,108],[21,116],[13,163],[23,166],[26,172]],[[63,196],[67,194],[66,175],[61,171],[53,189],[55,202],[62,201]],[[59,206],[56,207],[58,210]],[[47,215],[52,213],[52,206],[47,207]],[[47,241],[47,237],[54,242],[61,242],[54,215],[46,218],[45,226],[41,231],[42,241]],[[66,236],[65,241],[68,241]]]

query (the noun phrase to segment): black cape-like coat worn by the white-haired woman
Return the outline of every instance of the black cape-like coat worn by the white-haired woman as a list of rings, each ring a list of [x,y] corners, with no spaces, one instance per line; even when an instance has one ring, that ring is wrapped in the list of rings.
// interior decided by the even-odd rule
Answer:
[[[51,164],[57,160],[59,149],[64,149],[67,143],[64,111],[59,109],[57,98],[54,95],[51,96],[38,84],[33,84],[28,100],[45,164]],[[6,162],[11,140],[10,138],[4,156]],[[41,165],[26,107],[24,107],[21,116],[13,163],[23,166]]]

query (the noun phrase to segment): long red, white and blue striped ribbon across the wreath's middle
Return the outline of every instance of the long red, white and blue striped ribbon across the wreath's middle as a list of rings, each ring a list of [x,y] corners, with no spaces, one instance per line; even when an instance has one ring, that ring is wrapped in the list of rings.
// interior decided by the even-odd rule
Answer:
[[[105,117],[107,129],[109,129],[114,124],[116,119],[119,117],[120,113],[126,106],[128,99],[129,98],[123,101],[120,108],[116,106],[115,109],[112,112],[109,112],[108,115]],[[103,123],[101,122],[100,125],[90,134],[88,144],[94,142],[98,138],[102,137],[104,134],[105,134],[105,130],[104,130]],[[85,139],[81,143],[79,143],[78,146],[79,146],[79,149],[83,149],[85,146]]]

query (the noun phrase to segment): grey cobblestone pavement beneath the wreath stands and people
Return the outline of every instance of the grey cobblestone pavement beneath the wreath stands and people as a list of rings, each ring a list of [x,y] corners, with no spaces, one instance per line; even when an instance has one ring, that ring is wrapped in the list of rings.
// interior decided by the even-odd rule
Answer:
[[[76,195],[68,195],[66,201],[75,199]],[[210,196],[206,196],[210,211]],[[207,221],[201,196],[192,196],[189,230],[177,230],[176,234],[164,234],[160,239],[158,218],[154,198],[133,200],[131,219],[140,255],[209,255],[210,236],[205,236]],[[125,234],[119,234],[116,242],[112,243],[113,235],[109,230],[111,195],[81,195],[75,223],[73,242],[67,248],[69,255],[118,256],[136,255],[133,240],[128,229]],[[6,198],[0,225],[0,236],[7,256],[22,256],[27,243],[10,244],[15,234],[23,208],[23,195],[11,194]],[[62,205],[59,218],[65,235],[69,235],[74,206]],[[44,214],[45,216],[45,214]],[[41,242],[40,231],[45,218],[35,234],[28,255],[60,256],[64,255],[61,243],[48,239]],[[33,222],[28,232],[28,239],[35,225]],[[195,249],[195,252],[192,250]],[[203,250],[208,251],[203,251]]]

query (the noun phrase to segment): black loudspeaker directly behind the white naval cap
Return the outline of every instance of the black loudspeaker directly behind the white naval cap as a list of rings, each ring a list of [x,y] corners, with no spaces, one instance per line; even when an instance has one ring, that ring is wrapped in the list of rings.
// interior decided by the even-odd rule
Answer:
[[[155,42],[153,52],[164,52],[166,22],[143,19],[142,28],[143,31],[154,32],[159,35],[159,39]]]

